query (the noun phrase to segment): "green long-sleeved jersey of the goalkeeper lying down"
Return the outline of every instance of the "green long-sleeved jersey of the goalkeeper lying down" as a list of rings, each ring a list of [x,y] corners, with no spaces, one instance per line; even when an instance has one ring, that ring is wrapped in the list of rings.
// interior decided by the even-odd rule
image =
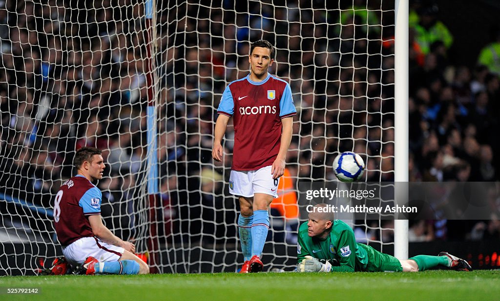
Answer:
[[[298,228],[298,263],[305,256],[312,256],[319,260],[337,260],[339,266],[332,267],[332,272],[366,271],[370,249],[370,246],[356,243],[354,231],[341,220],[333,221],[330,234],[323,240],[307,235],[307,222]]]

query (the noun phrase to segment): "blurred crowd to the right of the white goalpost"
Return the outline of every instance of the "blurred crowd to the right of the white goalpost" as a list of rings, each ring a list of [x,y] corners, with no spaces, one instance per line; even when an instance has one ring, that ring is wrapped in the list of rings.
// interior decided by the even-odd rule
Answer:
[[[491,57],[500,54],[500,27],[491,28],[476,64],[465,66],[450,59],[444,13],[434,1],[413,1],[410,9],[409,180],[498,181],[500,61]],[[500,238],[500,195],[485,201],[490,220],[410,222],[410,241]]]

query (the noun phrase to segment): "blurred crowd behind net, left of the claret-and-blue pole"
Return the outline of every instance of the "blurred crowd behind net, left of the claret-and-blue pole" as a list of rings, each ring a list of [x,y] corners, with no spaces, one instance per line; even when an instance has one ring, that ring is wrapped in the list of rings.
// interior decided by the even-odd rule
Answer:
[[[51,208],[74,152],[97,147],[110,177],[98,183],[103,216],[133,229],[146,156],[143,4],[88,3],[0,1],[0,193]]]

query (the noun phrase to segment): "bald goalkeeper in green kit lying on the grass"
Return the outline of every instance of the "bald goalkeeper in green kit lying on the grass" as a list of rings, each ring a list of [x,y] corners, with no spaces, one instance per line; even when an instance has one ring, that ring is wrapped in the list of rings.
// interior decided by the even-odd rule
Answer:
[[[317,204],[314,207],[326,207]],[[356,243],[354,232],[332,212],[309,213],[309,221],[298,229],[298,272],[418,272],[444,266],[472,271],[469,264],[446,252],[438,256],[417,255],[407,260],[380,253]]]

